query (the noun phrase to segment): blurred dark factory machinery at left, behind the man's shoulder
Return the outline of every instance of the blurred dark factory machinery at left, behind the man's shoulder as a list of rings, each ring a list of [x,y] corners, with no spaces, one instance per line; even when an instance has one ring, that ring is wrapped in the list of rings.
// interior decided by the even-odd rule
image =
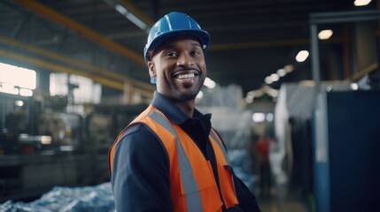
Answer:
[[[108,149],[146,107],[92,105],[83,116],[66,112],[60,99],[0,93],[0,202],[109,181]]]

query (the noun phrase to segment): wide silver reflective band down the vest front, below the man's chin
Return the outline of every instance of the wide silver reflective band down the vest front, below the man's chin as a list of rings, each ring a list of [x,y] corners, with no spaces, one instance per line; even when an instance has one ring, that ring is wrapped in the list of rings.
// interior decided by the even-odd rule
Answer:
[[[178,134],[175,133],[173,126],[163,117],[159,112],[151,111],[148,114],[154,121],[163,126],[169,133],[172,133],[175,137],[175,144],[178,151],[179,168],[181,172],[181,179],[184,192],[186,193],[186,205],[189,212],[200,212],[203,211],[202,201],[200,200],[200,195],[198,193],[198,184],[194,178],[194,173],[192,172],[190,161],[186,156],[182,143],[179,140]],[[197,192],[195,192],[197,191]]]

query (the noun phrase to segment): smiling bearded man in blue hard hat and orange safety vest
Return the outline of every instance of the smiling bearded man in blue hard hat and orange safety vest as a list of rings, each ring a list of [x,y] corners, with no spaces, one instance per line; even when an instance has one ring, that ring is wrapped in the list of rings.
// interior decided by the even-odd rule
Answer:
[[[157,91],[109,155],[117,211],[260,211],[229,166],[211,114],[195,109],[209,42],[181,12],[151,28],[144,57]]]

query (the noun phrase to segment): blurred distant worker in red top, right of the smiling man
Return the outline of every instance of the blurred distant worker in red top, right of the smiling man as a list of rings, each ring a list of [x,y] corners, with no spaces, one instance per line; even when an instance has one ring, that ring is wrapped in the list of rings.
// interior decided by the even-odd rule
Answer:
[[[254,145],[257,160],[260,166],[260,197],[269,197],[271,188],[271,174],[269,163],[269,147],[272,139],[268,132],[262,133]]]

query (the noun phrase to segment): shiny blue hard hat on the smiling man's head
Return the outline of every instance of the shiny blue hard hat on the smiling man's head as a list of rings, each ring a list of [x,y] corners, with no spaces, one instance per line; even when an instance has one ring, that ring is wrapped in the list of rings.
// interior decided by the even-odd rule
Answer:
[[[145,62],[151,60],[149,52],[153,49],[157,49],[162,42],[181,34],[189,34],[198,39],[204,52],[210,42],[210,34],[201,29],[190,16],[185,13],[172,11],[159,19],[148,35],[148,41],[143,49],[143,56]]]

